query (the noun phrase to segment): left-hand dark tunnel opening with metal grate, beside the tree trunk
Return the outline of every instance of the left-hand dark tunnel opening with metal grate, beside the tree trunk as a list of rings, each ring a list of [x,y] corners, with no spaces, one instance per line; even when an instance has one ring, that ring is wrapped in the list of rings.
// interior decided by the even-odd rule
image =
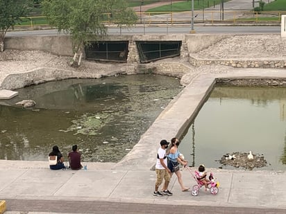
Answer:
[[[85,45],[87,60],[126,62],[128,41],[96,41]]]

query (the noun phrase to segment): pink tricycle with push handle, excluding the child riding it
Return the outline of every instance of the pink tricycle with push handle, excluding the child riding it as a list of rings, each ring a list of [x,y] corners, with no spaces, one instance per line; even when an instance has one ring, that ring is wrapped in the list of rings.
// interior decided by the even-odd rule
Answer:
[[[192,170],[189,167],[186,166],[186,168],[190,171],[192,177],[194,177],[194,180],[196,181],[196,184],[192,187],[192,195],[199,195],[200,188],[204,186],[203,182],[199,180],[199,172],[194,171],[193,174]],[[208,183],[210,193],[212,195],[217,195],[217,193],[219,193],[219,181],[216,181],[216,179],[214,179],[214,175],[212,174],[212,172],[210,172],[210,176],[208,178],[210,179],[210,182]]]

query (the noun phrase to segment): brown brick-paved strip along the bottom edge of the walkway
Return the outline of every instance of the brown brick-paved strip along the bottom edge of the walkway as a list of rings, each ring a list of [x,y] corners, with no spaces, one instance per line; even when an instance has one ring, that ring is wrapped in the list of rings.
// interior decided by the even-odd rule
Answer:
[[[106,201],[51,201],[31,199],[7,199],[10,211],[19,211],[19,214],[26,213],[96,213],[96,214],[180,214],[180,213],[235,213],[235,214],[284,214],[285,210],[278,208],[246,208],[246,207],[224,207],[224,206],[190,206],[176,204],[144,204],[137,202],[106,202]],[[21,212],[20,212],[21,211]],[[9,214],[12,212],[7,212]]]

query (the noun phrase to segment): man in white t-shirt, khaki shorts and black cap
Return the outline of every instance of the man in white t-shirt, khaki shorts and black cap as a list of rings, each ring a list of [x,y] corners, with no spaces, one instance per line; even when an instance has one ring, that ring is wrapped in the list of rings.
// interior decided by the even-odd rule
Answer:
[[[157,175],[156,183],[155,183],[155,191],[153,193],[154,196],[162,196],[162,195],[173,195],[168,190],[169,182],[170,182],[170,173],[171,171],[167,167],[167,157],[166,157],[166,149],[168,148],[169,143],[166,140],[162,140],[160,142],[161,147],[158,149],[157,154],[157,162],[155,165],[155,172]],[[163,179],[165,180],[165,184],[162,188],[162,192],[158,191],[159,186],[162,184]]]

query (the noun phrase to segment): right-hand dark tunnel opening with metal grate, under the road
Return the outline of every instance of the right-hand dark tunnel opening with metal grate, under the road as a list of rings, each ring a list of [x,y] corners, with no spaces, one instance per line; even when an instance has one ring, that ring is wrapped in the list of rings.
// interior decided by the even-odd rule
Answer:
[[[140,62],[153,62],[180,55],[181,41],[137,41]]]

